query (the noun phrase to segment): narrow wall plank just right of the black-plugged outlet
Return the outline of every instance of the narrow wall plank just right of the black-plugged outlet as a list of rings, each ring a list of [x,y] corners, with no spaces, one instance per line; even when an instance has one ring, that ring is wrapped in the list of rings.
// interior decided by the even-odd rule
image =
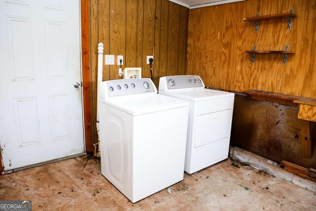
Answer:
[[[160,62],[160,23],[161,23],[161,0],[156,0],[155,11],[155,43],[154,43],[154,84],[159,87],[159,62]]]

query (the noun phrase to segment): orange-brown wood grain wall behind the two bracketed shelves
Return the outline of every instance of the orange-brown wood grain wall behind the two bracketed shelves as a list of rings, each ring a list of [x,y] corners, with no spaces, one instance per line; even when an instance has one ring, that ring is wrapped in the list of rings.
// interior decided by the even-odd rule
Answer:
[[[285,19],[261,21],[255,32],[243,17],[289,12]],[[289,50],[286,65],[279,54],[257,54],[251,63],[244,50]],[[205,85],[242,91],[255,89],[316,98],[316,0],[247,0],[189,11],[187,75]]]

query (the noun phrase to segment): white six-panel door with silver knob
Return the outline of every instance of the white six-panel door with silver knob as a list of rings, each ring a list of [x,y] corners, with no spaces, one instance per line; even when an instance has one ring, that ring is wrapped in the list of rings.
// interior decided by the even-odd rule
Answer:
[[[0,1],[4,170],[84,152],[79,14],[79,0]]]

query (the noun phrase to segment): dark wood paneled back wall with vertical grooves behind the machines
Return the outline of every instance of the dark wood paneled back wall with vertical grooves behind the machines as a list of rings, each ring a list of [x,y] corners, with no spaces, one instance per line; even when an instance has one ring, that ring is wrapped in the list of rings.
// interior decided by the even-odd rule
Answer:
[[[116,65],[103,66],[103,80],[119,79],[117,56],[122,69],[142,67],[142,78],[150,78],[146,57],[154,55],[153,81],[159,77],[184,75],[189,10],[168,0],[90,0],[90,46],[92,116],[96,121],[97,46],[114,54]],[[94,142],[97,142],[94,126]]]

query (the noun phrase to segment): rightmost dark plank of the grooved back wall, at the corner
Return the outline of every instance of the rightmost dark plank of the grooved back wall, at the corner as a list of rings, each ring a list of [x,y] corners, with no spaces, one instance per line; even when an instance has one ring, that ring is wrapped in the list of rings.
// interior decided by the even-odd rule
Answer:
[[[189,9],[184,6],[181,6],[180,7],[180,23],[179,23],[179,48],[178,48],[177,75],[185,75],[185,72],[186,72],[188,15],[189,15]]]

